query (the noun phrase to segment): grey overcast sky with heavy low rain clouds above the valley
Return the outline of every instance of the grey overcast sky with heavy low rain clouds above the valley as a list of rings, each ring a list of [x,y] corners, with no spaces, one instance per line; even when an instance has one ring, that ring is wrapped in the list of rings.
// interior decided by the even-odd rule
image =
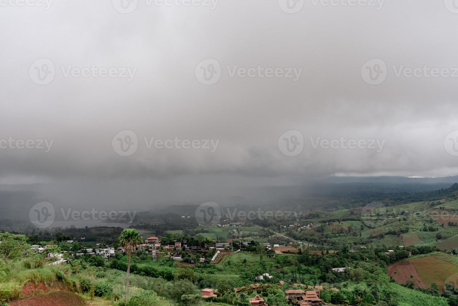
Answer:
[[[52,145],[1,148],[0,183],[44,183],[69,203],[148,203],[328,175],[458,174],[444,148],[458,136],[447,136],[458,130],[452,0],[19,1],[0,0],[0,139]],[[369,71],[373,59],[386,68]],[[125,130],[138,138],[129,156],[114,148],[132,140]],[[296,142],[297,132],[281,137],[292,130],[303,149],[287,156],[279,142]],[[218,145],[147,148],[143,137]],[[341,138],[383,145],[314,148]]]

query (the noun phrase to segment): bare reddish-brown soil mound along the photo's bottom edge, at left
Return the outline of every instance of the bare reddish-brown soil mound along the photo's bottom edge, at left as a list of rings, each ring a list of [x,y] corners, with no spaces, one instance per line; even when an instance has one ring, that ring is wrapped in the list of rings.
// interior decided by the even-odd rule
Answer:
[[[57,291],[8,302],[9,306],[85,306],[81,296],[71,292]]]

